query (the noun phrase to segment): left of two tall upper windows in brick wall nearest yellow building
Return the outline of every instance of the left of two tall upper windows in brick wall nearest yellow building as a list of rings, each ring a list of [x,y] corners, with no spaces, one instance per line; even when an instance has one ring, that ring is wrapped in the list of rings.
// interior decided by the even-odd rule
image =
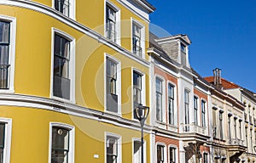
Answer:
[[[156,99],[156,120],[163,121],[162,110],[162,80],[156,77],[155,79],[155,99]]]

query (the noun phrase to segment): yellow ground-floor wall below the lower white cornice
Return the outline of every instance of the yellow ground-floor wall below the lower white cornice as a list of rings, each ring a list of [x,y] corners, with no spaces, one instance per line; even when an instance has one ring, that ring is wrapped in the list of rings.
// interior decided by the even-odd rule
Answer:
[[[131,163],[132,138],[140,138],[139,131],[113,126],[101,121],[93,121],[78,116],[64,115],[56,113],[55,111],[1,106],[0,112],[3,113],[4,117],[13,120],[11,162],[48,162],[49,122],[61,122],[75,126],[76,163],[104,162],[105,132],[111,132],[121,136],[122,162]],[[147,142],[147,155],[149,155],[148,134],[145,134],[145,141]],[[95,159],[93,155],[99,155],[99,159]]]

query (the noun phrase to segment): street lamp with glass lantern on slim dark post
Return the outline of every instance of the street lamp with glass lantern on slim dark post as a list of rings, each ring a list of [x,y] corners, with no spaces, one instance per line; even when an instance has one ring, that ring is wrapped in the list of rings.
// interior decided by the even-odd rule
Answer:
[[[148,117],[149,107],[143,106],[143,104],[139,104],[135,109],[135,112],[137,115],[137,119],[138,121],[140,121],[141,127],[142,127],[142,142],[141,142],[142,143],[142,162],[141,163],[143,163],[143,126]]]

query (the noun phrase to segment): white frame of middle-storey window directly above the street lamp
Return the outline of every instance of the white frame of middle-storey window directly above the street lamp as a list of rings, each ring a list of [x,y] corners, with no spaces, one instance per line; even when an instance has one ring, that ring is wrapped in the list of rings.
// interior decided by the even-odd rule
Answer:
[[[137,70],[135,68],[131,68],[131,113],[132,113],[132,120],[137,120],[133,115],[133,110],[135,110],[135,108],[133,107],[133,72],[136,71],[138,74],[140,74],[142,76],[142,104],[145,105],[146,104],[146,79],[145,79],[145,73],[143,73],[140,70]]]

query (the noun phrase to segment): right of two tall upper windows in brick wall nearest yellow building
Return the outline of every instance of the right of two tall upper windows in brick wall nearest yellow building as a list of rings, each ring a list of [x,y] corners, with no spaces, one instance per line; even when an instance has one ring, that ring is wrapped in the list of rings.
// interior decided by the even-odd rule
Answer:
[[[168,112],[169,123],[174,125],[174,86],[168,84]]]

